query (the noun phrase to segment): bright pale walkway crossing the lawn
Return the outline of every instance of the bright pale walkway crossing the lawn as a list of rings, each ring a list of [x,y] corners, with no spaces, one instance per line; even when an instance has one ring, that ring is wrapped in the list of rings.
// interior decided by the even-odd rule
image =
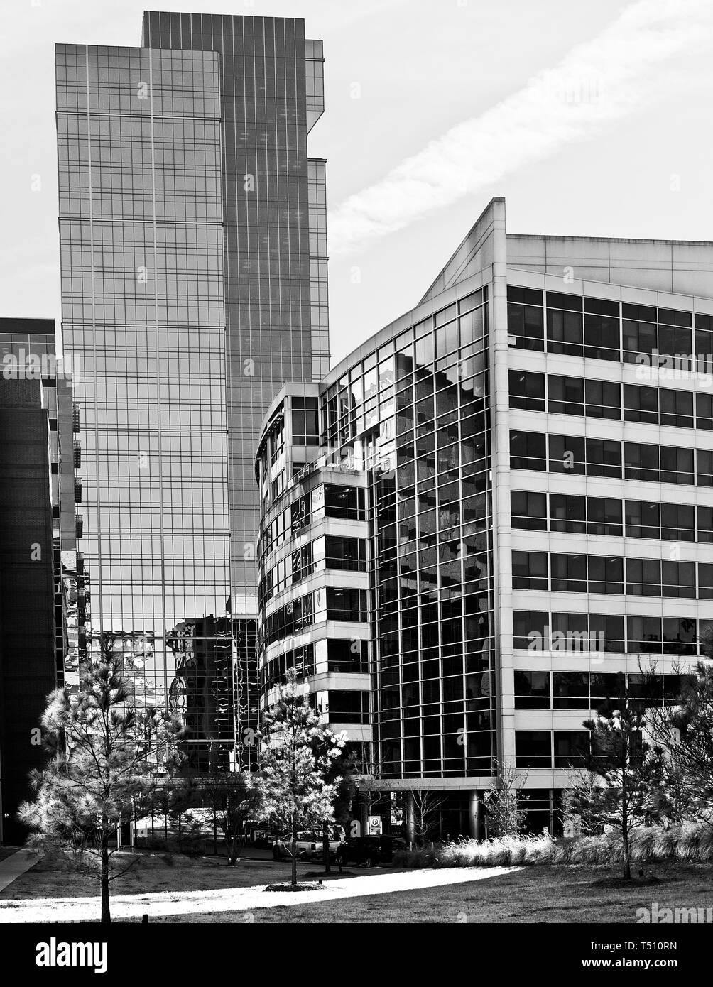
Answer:
[[[206,914],[209,912],[250,912],[278,905],[304,905],[334,898],[356,898],[366,894],[393,894],[424,887],[465,884],[519,868],[443,868],[428,871],[364,874],[330,880],[314,891],[266,891],[257,887],[231,887],[215,891],[164,891],[158,894],[112,895],[113,919],[149,919],[175,915]],[[0,923],[3,922],[85,922],[96,921],[98,898],[29,898],[0,901]]]

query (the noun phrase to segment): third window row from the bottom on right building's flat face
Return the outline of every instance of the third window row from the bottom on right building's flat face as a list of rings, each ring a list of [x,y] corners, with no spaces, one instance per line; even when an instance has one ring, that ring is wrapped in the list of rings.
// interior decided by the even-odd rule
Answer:
[[[554,613],[515,610],[515,650],[589,654],[592,651],[696,654],[711,621],[689,617]]]

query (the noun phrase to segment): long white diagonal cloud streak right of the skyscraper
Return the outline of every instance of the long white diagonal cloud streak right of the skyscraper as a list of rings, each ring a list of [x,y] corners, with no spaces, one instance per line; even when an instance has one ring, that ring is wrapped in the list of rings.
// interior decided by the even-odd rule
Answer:
[[[505,175],[594,137],[650,105],[674,81],[667,63],[711,46],[710,0],[640,0],[596,38],[486,113],[452,127],[330,217],[332,254],[346,254]],[[685,61],[682,62],[685,65]],[[675,65],[677,81],[682,66]]]

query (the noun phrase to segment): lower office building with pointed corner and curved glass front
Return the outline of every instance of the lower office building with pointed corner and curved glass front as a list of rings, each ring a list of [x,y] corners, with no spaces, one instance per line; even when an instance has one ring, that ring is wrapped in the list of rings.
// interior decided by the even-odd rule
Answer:
[[[256,478],[263,705],[296,667],[442,835],[506,762],[556,829],[590,711],[652,663],[674,695],[713,619],[713,244],[519,236],[493,199],[416,308],[281,389]]]

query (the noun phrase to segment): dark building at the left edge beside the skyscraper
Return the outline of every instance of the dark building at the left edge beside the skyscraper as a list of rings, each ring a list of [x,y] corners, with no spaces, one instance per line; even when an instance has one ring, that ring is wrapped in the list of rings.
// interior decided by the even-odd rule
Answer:
[[[79,646],[71,386],[49,319],[0,319],[0,841],[45,758],[47,695]],[[70,576],[68,567],[73,566]],[[81,560],[80,560],[81,569]],[[73,609],[68,609],[69,580]],[[79,580],[81,585],[81,578]]]

